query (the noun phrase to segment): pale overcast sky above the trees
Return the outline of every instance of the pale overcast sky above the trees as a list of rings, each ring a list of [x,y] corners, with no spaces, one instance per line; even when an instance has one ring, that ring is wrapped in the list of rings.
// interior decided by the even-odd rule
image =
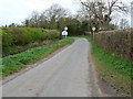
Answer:
[[[21,23],[32,11],[43,11],[51,4],[59,3],[75,13],[79,9],[76,0],[0,0],[0,26]]]

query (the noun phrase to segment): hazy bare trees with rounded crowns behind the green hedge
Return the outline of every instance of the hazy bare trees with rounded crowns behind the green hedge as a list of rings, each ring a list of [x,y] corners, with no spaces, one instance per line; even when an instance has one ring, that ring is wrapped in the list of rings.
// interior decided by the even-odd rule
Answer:
[[[31,15],[24,20],[24,26],[58,29],[58,22],[62,18],[69,16],[70,12],[59,4],[52,4],[49,9],[39,13],[32,11]]]

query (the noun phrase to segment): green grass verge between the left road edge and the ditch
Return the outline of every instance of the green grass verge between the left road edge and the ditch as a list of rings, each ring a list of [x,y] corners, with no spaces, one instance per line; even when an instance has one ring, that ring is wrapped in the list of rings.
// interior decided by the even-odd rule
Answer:
[[[1,76],[6,77],[12,73],[19,72],[27,65],[33,64],[37,61],[47,57],[60,47],[71,44],[73,41],[73,38],[69,37],[66,40],[50,43],[49,45],[30,48],[25,52],[3,57],[2,65],[0,66],[0,68],[2,68]]]

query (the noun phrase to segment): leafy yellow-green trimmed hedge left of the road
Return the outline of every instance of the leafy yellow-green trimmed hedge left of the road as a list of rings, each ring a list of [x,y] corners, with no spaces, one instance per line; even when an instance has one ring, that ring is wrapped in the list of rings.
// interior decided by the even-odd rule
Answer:
[[[2,46],[22,45],[37,41],[60,38],[57,30],[2,28]]]

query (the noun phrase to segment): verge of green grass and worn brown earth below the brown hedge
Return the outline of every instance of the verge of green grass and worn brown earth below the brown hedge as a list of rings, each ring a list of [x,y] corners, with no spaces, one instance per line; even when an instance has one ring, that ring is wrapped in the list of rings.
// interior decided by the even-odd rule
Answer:
[[[117,96],[131,96],[131,62],[120,59],[114,53],[99,47],[90,36],[84,36],[92,43],[92,55],[99,77],[116,89]]]

